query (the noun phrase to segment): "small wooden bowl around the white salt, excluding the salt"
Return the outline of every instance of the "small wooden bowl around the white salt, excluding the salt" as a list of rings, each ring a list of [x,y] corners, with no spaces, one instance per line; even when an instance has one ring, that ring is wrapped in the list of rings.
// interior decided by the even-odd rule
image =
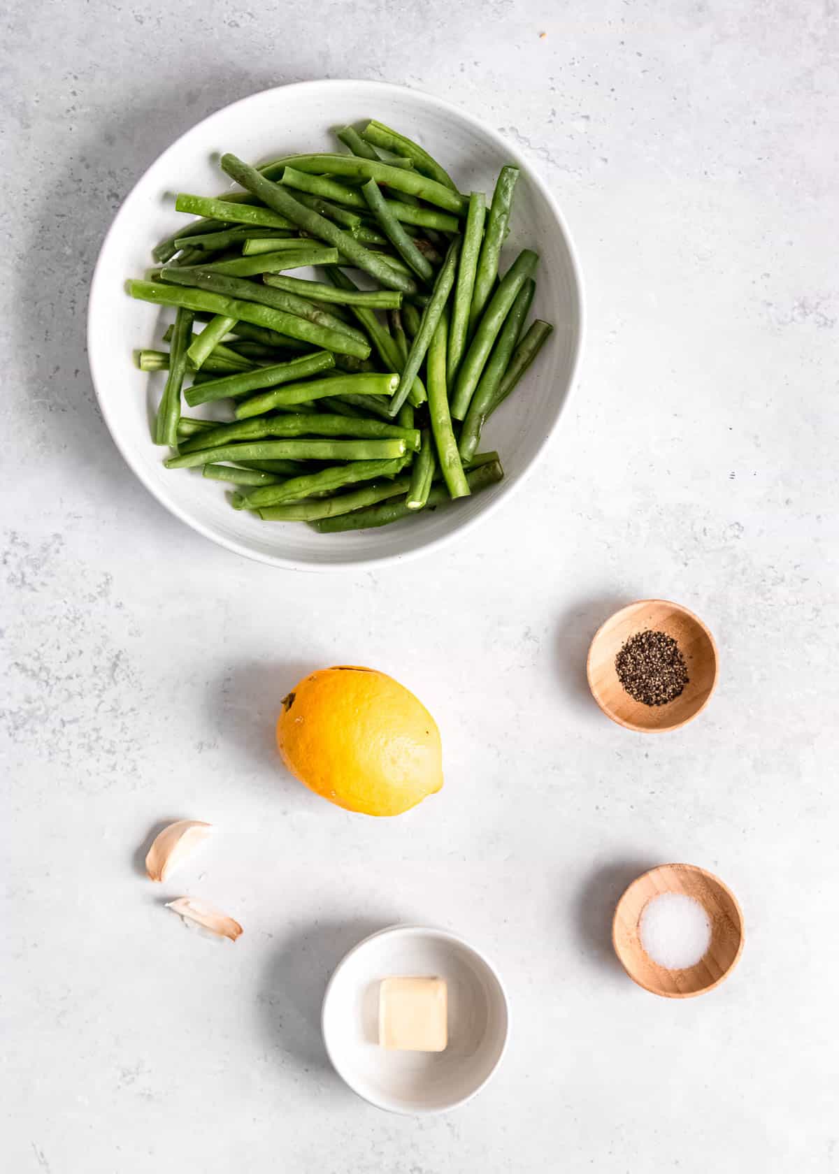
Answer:
[[[705,957],[685,970],[659,966],[640,944],[640,918],[650,902],[663,892],[693,897],[711,922],[711,944]],[[666,999],[690,999],[719,986],[743,952],[743,911],[731,889],[693,864],[659,864],[629,886],[615,910],[612,945],[629,977],[638,986]]]

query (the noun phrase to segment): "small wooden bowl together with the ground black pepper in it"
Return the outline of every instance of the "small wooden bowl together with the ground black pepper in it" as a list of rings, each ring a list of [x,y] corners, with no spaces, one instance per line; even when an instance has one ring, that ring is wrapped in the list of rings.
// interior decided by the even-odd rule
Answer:
[[[589,688],[603,713],[642,734],[685,726],[717,683],[717,645],[702,620],[665,599],[629,603],[598,629]]]

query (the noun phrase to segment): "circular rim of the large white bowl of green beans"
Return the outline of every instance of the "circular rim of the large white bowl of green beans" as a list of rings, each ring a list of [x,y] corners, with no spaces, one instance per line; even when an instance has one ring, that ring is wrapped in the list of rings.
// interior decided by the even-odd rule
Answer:
[[[153,167],[157,164],[157,162],[163,157],[163,155],[166,155],[168,151],[174,150],[183,142],[183,140],[188,135],[192,135],[194,130],[203,126],[206,122],[209,122],[212,119],[216,117],[222,112],[233,110],[234,108],[244,106],[249,102],[259,102],[261,99],[264,99],[264,96],[268,94],[276,94],[282,90],[291,95],[293,92],[311,90],[318,88],[340,89],[341,87],[348,87],[348,86],[375,87],[377,89],[381,89],[383,92],[390,92],[392,94],[402,94],[402,95],[410,94],[417,97],[421,102],[424,102],[428,106],[436,108],[438,110],[443,110],[449,115],[454,115],[462,122],[465,122],[467,124],[471,124],[474,128],[479,129],[486,137],[492,140],[492,142],[496,144],[499,151],[505,151],[509,155],[509,157],[516,163],[516,166],[525,173],[529,182],[531,182],[537,188],[542,197],[545,200],[552,216],[555,217],[562,231],[563,241],[568,250],[568,256],[571,266],[571,276],[577,296],[577,329],[571,352],[571,363],[570,363],[570,371],[569,371],[565,394],[556,411],[556,414],[553,416],[553,419],[548,425],[544,436],[538,441],[537,448],[532,458],[530,459],[528,465],[521,471],[521,473],[515,478],[515,480],[502,481],[495,498],[488,501],[483,508],[477,511],[472,518],[464,519],[458,526],[455,526],[450,533],[439,534],[438,537],[431,538],[428,541],[423,542],[422,545],[414,546],[407,551],[401,551],[398,553],[371,554],[364,558],[345,559],[340,562],[330,562],[330,561],[304,562],[301,559],[295,559],[282,554],[269,554],[263,551],[255,551],[243,541],[240,541],[235,538],[226,538],[224,535],[217,534],[212,528],[212,526],[207,525],[200,519],[192,517],[188,510],[182,507],[176,500],[167,497],[161,491],[160,486],[157,486],[152,480],[150,477],[147,477],[142,465],[133,459],[128,445],[123,445],[120,443],[120,440],[118,440],[116,432],[114,431],[114,426],[112,425],[112,413],[108,410],[106,397],[100,392],[100,386],[102,387],[106,386],[107,380],[103,377],[101,378],[98,377],[99,360],[98,360],[98,344],[95,342],[96,329],[94,325],[94,302],[99,303],[100,301],[100,289],[102,288],[103,283],[102,278],[102,270],[105,268],[103,258],[106,256],[108,247],[110,245],[112,239],[114,238],[116,231],[121,227],[121,221],[125,215],[126,205],[132,200],[136,189],[145,182],[148,173],[152,170]],[[234,554],[241,554],[247,559],[255,560],[256,562],[263,562],[267,566],[278,567],[286,571],[298,571],[298,572],[358,571],[372,566],[383,566],[392,562],[403,562],[408,559],[418,558],[422,554],[430,554],[432,551],[439,551],[448,542],[452,541],[458,534],[465,534],[478,521],[485,520],[486,518],[490,517],[490,514],[495,513],[498,506],[501,506],[503,501],[506,501],[509,499],[509,495],[516,488],[518,488],[532,473],[538,460],[544,456],[545,446],[548,445],[550,439],[555,436],[556,430],[559,425],[559,420],[562,416],[565,413],[569,400],[577,383],[579,358],[583,350],[584,338],[585,338],[585,296],[584,296],[583,277],[579,266],[579,259],[577,257],[577,251],[571,234],[569,231],[568,224],[565,223],[565,217],[559,210],[559,207],[550,188],[542,178],[539,173],[536,170],[535,164],[532,164],[528,158],[525,158],[524,155],[514,144],[508,142],[508,140],[504,139],[503,135],[501,135],[497,130],[495,130],[495,128],[491,127],[483,119],[479,119],[477,117],[477,115],[474,115],[462,109],[459,106],[448,101],[447,99],[438,97],[436,94],[429,94],[423,89],[415,89],[411,86],[398,86],[395,85],[394,82],[374,81],[374,80],[357,79],[357,77],[314,79],[310,81],[289,82],[284,86],[271,86],[268,89],[256,90],[253,94],[248,94],[244,97],[237,99],[235,102],[229,102],[227,106],[219,107],[217,110],[213,110],[206,117],[193,123],[193,126],[189,127],[187,130],[184,130],[183,134],[179,135],[177,139],[175,139],[172,143],[169,143],[168,147],[166,147],[162,151],[160,151],[156,155],[156,157],[148,164],[148,167],[145,168],[142,175],[137,178],[136,183],[132,185],[130,191],[128,191],[125,200],[116,210],[116,214],[113,221],[110,222],[107,232],[105,234],[101,248],[99,250],[96,264],[93,270],[93,277],[90,279],[90,290],[88,295],[88,308],[87,308],[87,356],[88,356],[88,366],[90,369],[90,378],[93,382],[94,392],[96,394],[96,402],[99,403],[99,410],[102,414],[102,419],[105,420],[108,432],[110,433],[112,440],[116,445],[118,450],[122,454],[123,460],[132,470],[132,472],[135,474],[135,477],[148,490],[148,492],[166,510],[169,511],[169,513],[174,514],[174,517],[179,518],[192,529],[196,531],[199,534],[202,534],[204,538],[209,539],[212,542],[215,542],[217,546],[222,546],[226,549],[231,551]]]

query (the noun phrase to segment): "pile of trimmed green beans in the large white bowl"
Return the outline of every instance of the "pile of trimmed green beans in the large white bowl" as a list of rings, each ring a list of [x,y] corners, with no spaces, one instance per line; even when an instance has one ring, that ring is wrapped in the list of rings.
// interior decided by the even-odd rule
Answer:
[[[336,137],[347,153],[259,168],[223,155],[242,190],[177,195],[197,218],[126,285],[175,311],[169,350],[134,352],[161,384],[152,439],[169,448],[166,467],[226,483],[254,519],[318,533],[497,484],[498,454],[477,451],[483,426],[552,330],[526,324],[538,255],[502,258],[516,167],[488,200],[382,122]],[[309,266],[316,279],[290,272]]]

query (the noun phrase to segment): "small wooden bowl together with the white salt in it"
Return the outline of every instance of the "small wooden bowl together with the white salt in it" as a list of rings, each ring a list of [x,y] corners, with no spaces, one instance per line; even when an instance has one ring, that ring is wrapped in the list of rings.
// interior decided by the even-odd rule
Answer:
[[[659,864],[615,910],[612,944],[638,986],[690,999],[719,986],[743,952],[743,912],[719,877],[694,864]]]

